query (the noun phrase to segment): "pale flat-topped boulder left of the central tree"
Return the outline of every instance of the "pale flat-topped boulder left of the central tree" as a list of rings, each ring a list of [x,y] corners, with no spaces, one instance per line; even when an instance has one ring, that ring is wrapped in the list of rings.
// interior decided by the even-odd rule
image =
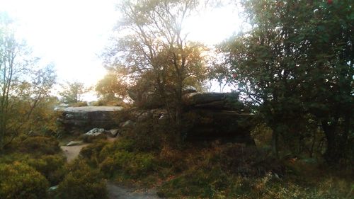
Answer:
[[[122,109],[120,106],[83,106],[56,108],[55,111],[65,130],[87,132],[93,127],[110,129],[119,125],[114,118]]]

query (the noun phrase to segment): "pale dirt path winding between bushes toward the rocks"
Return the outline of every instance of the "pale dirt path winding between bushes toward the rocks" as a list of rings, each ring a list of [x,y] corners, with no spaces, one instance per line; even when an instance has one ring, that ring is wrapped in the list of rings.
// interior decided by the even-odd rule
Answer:
[[[115,139],[108,140],[108,142],[113,142]],[[88,146],[89,144],[82,144],[76,146],[62,146],[65,157],[67,157],[67,162],[73,161],[76,157],[79,156],[82,148]],[[129,188],[123,188],[115,185],[113,182],[107,182],[107,191],[109,199],[159,199],[159,196],[156,195],[155,191],[132,191]]]

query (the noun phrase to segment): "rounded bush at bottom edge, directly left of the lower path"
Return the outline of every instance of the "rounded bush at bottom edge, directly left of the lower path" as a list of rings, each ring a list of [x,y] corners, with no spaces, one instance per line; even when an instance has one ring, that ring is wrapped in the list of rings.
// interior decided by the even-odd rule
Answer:
[[[98,171],[84,161],[76,160],[67,166],[67,175],[59,183],[57,197],[61,199],[108,198],[105,182]]]

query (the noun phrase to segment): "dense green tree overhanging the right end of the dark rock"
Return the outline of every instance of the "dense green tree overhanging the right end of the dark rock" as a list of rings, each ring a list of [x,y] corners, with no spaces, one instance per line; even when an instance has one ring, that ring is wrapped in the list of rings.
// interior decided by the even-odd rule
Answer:
[[[272,146],[276,155],[279,136],[289,133],[291,124],[299,122],[299,115],[304,114],[297,98],[296,67],[303,56],[302,45],[292,42],[298,37],[297,29],[303,25],[303,21],[293,18],[294,13],[304,7],[295,8],[297,4],[297,1],[287,4],[244,1],[253,28],[230,39],[221,50],[227,56],[227,63],[232,65],[239,89],[253,103],[261,105],[259,111],[273,130]],[[306,9],[302,11],[308,13]]]

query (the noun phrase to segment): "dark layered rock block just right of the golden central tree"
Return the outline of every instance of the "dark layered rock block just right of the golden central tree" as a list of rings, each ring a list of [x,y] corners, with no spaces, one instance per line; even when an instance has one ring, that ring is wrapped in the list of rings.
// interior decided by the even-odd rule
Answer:
[[[183,96],[186,140],[224,140],[253,144],[253,115],[238,93],[187,93]]]

